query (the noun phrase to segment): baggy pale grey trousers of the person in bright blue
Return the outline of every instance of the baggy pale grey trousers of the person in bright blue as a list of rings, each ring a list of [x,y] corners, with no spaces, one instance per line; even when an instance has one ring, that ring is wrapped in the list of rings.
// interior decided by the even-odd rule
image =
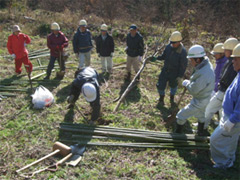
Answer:
[[[210,151],[212,160],[219,166],[229,166],[235,161],[238,139],[240,135],[240,123],[236,123],[230,132],[223,128],[223,123],[228,116],[223,113],[221,122],[210,137]]]

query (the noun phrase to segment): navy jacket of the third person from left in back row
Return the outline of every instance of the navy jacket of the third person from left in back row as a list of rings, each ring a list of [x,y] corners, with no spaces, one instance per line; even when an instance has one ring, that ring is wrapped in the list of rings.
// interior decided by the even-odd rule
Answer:
[[[73,51],[74,53],[85,53],[92,49],[92,35],[88,29],[85,32],[81,32],[80,28],[73,37]]]

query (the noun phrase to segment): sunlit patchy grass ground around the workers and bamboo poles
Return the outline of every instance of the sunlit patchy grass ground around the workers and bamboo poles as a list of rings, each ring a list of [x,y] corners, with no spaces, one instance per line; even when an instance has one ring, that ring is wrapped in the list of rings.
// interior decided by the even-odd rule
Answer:
[[[2,32],[1,32],[2,33]],[[4,35],[3,35],[4,34]],[[4,43],[8,32],[4,31],[3,44],[0,47],[1,55],[6,55]],[[46,48],[46,38],[31,36],[32,43],[28,46],[31,51]],[[71,44],[71,43],[70,43]],[[125,44],[117,43],[114,64],[125,62],[123,53]],[[67,109],[66,98],[73,80],[74,71],[78,66],[72,53],[67,64],[67,72],[63,80],[55,78],[52,73],[49,81],[42,81],[41,76],[34,81],[34,88],[44,85],[53,93],[55,103],[44,110],[35,110],[31,104],[31,90],[29,84],[17,85],[27,92],[14,92],[16,97],[4,99],[0,102],[0,179],[25,179],[15,173],[17,169],[51,152],[52,145],[59,139],[59,123],[85,123],[83,117],[74,109]],[[151,51],[148,53],[151,55]],[[43,65],[48,64],[48,57],[41,58]],[[32,60],[38,66],[36,60]],[[95,50],[92,53],[92,66],[101,73],[101,63]],[[101,121],[95,124],[107,123],[112,127],[136,128],[172,132],[174,127],[166,128],[164,119],[171,114],[169,89],[166,93],[166,105],[156,108],[158,93],[156,82],[161,71],[162,63],[147,64],[141,75],[141,81],[121,104],[119,111],[113,112],[116,103],[113,102],[126,88],[124,82],[125,68],[116,67],[109,80],[101,84]],[[33,75],[42,71],[34,71]],[[13,62],[0,59],[0,78],[4,81],[24,82],[27,76],[16,77]],[[2,81],[4,80],[4,81]],[[182,88],[178,90],[177,101]],[[186,105],[191,96],[181,102],[180,107]],[[90,119],[90,106],[81,96],[77,102],[81,112]],[[196,127],[192,125],[195,118],[190,118],[185,133],[194,133]],[[210,131],[215,126],[210,127]],[[53,157],[34,166],[36,170],[55,162],[59,157]],[[32,179],[239,179],[239,151],[237,161],[232,169],[216,170],[212,168],[208,150],[167,150],[147,148],[110,148],[87,147],[83,160],[75,168],[60,167],[57,172],[43,172]]]

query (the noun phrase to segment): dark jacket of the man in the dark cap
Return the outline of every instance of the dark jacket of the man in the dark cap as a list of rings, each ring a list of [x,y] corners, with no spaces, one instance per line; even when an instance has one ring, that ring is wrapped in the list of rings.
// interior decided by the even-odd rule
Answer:
[[[142,35],[137,34],[132,37],[130,33],[127,35],[127,55],[131,57],[142,56],[144,52],[144,42]]]

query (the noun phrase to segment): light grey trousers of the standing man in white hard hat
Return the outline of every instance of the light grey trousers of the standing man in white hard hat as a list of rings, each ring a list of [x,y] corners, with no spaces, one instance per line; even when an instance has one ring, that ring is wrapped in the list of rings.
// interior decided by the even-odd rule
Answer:
[[[181,109],[177,115],[177,124],[183,125],[186,123],[187,119],[190,117],[196,117],[198,122],[205,122],[205,109],[209,102],[209,98],[205,99],[195,99],[193,98],[191,102]]]

